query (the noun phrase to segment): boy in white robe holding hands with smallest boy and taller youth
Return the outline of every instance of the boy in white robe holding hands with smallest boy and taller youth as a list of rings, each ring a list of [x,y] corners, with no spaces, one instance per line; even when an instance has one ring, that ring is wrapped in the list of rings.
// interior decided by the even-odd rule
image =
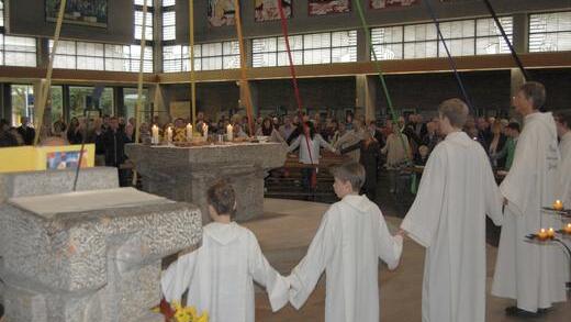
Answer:
[[[326,271],[326,322],[379,321],[379,258],[396,268],[402,236],[392,236],[376,203],[359,196],[365,169],[355,162],[333,169],[342,201],[323,215],[307,254],[292,270],[290,302],[300,309]]]

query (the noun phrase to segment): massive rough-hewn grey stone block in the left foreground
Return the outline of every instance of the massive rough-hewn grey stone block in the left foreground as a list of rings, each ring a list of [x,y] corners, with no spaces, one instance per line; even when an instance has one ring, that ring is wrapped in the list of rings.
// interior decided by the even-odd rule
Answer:
[[[0,177],[7,320],[164,321],[150,312],[160,301],[161,258],[200,242],[199,209],[115,188],[113,168],[82,170],[81,192],[66,192],[67,186],[54,190],[69,184],[68,175]],[[40,185],[23,189],[34,177]]]

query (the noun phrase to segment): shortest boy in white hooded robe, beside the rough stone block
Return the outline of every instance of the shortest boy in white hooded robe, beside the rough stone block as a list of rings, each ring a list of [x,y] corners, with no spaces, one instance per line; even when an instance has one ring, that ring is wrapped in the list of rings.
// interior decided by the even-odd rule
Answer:
[[[254,280],[266,287],[272,311],[288,303],[289,284],[268,263],[256,236],[231,221],[236,198],[220,181],[208,190],[210,216],[202,245],[179,256],[161,278],[168,302],[180,301],[188,289],[187,306],[206,311],[211,322],[254,322]]]

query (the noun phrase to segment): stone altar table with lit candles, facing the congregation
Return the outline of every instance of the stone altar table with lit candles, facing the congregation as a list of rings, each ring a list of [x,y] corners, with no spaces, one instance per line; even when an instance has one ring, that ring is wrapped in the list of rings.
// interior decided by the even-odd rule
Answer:
[[[197,147],[127,144],[143,190],[197,204],[208,218],[206,190],[226,179],[236,191],[238,221],[264,212],[264,178],[286,163],[286,146],[279,143],[244,143]]]

